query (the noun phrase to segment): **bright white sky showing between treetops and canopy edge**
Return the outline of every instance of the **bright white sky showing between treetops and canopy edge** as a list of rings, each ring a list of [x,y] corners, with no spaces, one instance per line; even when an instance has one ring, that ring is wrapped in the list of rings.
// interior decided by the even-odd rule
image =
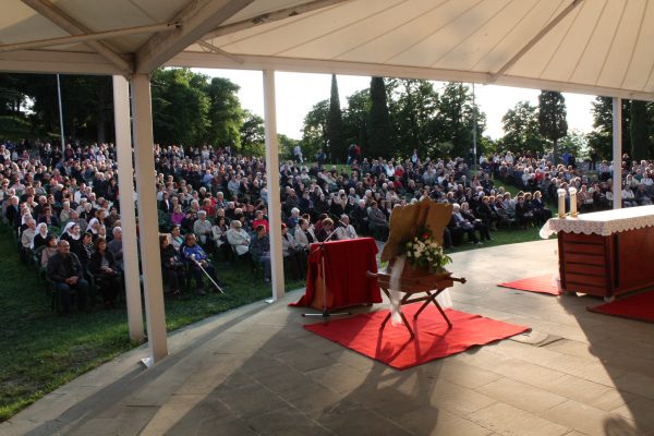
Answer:
[[[211,77],[227,77],[238,84],[241,87],[239,90],[241,106],[263,118],[264,86],[261,71],[207,69],[194,69],[194,71]],[[366,76],[338,75],[337,80],[341,108],[347,106],[348,96],[368,87],[371,83],[371,77]],[[441,84],[436,83],[435,86],[438,89]],[[331,75],[277,72],[275,74],[275,87],[277,95],[277,131],[300,140],[304,116],[316,102],[329,98]],[[501,118],[507,110],[521,100],[529,100],[532,105],[537,106],[540,93],[537,89],[475,85],[477,105],[486,113],[486,131],[484,134],[494,140],[501,137],[504,135]],[[591,102],[595,97],[568,93],[565,93],[564,96],[568,109],[568,128],[584,133],[592,131]]]

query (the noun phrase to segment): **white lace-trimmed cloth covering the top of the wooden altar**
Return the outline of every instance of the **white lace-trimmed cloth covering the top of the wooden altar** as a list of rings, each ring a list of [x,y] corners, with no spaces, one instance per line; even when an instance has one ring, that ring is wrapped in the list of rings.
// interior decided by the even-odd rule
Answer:
[[[645,227],[654,227],[654,206],[581,214],[577,218],[552,218],[545,222],[540,234],[543,239],[547,239],[559,231],[608,237],[613,233]]]

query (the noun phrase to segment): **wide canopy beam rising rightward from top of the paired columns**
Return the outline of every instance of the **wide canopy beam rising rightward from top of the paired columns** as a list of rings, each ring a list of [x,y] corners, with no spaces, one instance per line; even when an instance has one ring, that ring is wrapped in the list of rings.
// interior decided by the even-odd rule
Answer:
[[[32,0],[33,1],[33,0]],[[174,32],[156,34],[136,52],[136,71],[150,73],[170,58],[196,43],[217,24],[220,24],[247,7],[254,0],[191,1],[174,20],[183,25]]]

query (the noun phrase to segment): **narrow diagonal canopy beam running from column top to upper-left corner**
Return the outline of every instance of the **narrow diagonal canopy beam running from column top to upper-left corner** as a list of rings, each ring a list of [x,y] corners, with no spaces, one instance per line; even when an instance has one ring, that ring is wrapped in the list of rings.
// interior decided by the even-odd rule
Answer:
[[[84,27],[81,23],[76,22],[72,16],[57,8],[49,1],[45,0],[22,0],[23,3],[34,9],[36,12],[57,24],[62,29],[66,31],[71,35],[85,35],[92,32]],[[108,61],[118,66],[125,74],[132,74],[133,68],[131,62],[124,60],[120,55],[113,51],[105,43],[90,40],[86,41],[86,45],[97,51]]]

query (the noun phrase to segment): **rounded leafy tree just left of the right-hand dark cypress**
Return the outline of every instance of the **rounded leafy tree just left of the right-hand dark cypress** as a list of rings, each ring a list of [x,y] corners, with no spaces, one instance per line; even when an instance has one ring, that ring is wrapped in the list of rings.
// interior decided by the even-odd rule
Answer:
[[[519,101],[501,118],[505,135],[501,138],[504,150],[522,154],[543,153],[545,140],[538,132],[538,108],[529,101]]]

